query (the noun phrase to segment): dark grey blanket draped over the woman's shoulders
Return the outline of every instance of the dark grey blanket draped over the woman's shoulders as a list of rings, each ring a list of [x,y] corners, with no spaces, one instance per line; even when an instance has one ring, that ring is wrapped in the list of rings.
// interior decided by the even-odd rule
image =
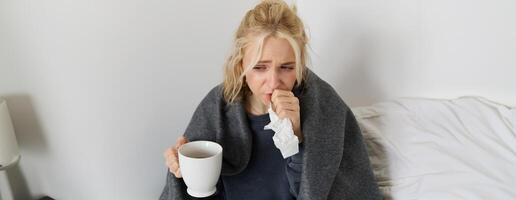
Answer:
[[[360,128],[349,107],[311,71],[298,98],[305,146],[298,199],[381,199]],[[240,173],[249,162],[252,136],[244,105],[227,104],[221,85],[202,100],[184,135],[189,141],[210,140],[222,145],[223,176]],[[183,180],[168,172],[160,200],[187,196]]]

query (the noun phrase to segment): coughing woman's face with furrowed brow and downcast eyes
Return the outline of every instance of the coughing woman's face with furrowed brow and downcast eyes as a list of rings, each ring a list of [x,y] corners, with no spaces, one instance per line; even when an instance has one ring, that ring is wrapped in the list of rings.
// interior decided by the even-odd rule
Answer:
[[[244,49],[244,67],[256,58],[256,45],[252,43]],[[291,91],[296,83],[295,61],[294,50],[286,39],[267,37],[263,43],[261,58],[245,74],[252,98],[268,106],[275,89]]]

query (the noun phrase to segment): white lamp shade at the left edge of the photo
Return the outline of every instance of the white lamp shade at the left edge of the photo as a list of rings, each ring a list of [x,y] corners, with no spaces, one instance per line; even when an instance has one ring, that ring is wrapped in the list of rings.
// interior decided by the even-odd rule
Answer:
[[[13,163],[19,154],[7,102],[0,98],[0,167]]]

